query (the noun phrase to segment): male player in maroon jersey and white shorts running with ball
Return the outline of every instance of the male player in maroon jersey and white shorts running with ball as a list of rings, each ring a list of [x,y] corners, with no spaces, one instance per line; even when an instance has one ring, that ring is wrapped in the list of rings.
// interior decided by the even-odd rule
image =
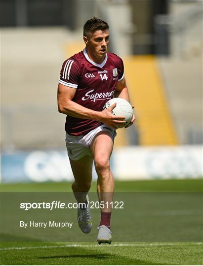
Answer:
[[[72,189],[82,207],[78,208],[78,224],[83,233],[91,231],[92,222],[88,191],[92,180],[92,163],[98,175],[97,192],[101,208],[98,243],[112,241],[110,231],[114,177],[110,157],[118,126],[124,117],[114,116],[116,103],[103,110],[104,104],[120,97],[129,101],[122,59],[108,53],[109,26],[96,17],[83,27],[85,48],[67,59],[61,69],[58,85],[58,110],[66,114],[66,147],[75,181]],[[134,115],[128,126],[132,125]]]

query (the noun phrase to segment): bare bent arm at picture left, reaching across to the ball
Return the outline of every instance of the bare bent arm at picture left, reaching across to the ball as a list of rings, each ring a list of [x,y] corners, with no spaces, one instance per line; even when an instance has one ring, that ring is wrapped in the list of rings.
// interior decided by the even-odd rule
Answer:
[[[117,129],[118,126],[125,124],[124,117],[115,117],[114,115],[112,115],[112,110],[116,107],[116,103],[103,110],[102,112],[94,111],[73,101],[72,99],[75,93],[75,88],[71,88],[59,83],[57,98],[58,111],[60,113],[82,119],[96,120],[115,129]]]

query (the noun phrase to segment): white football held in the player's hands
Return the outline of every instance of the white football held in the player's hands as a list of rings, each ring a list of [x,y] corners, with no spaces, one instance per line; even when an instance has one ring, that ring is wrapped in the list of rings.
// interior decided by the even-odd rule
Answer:
[[[125,117],[126,123],[123,126],[118,127],[118,128],[124,128],[130,123],[130,121],[132,119],[132,116],[133,116],[132,106],[127,100],[124,100],[122,98],[113,98],[111,100],[108,100],[105,103],[103,110],[109,108],[115,102],[117,103],[117,105],[112,110],[112,114],[115,116],[124,116]]]

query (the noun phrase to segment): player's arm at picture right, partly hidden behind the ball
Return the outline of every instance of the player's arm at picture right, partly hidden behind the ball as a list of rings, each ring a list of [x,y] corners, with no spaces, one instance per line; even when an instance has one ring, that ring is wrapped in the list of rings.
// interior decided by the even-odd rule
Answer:
[[[123,77],[122,80],[119,80],[117,82],[116,90],[114,92],[114,96],[115,96],[115,98],[117,98],[117,97],[118,98],[122,98],[122,99],[127,100],[128,102],[130,102],[129,93],[128,93],[125,77]],[[132,108],[134,108],[134,105],[132,105]],[[135,121],[135,116],[133,114],[130,123],[125,128],[128,128],[129,126],[131,126],[134,121]]]

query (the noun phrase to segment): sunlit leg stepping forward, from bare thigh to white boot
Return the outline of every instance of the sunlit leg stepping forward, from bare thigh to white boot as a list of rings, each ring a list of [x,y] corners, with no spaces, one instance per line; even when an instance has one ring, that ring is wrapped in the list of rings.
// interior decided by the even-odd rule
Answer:
[[[113,150],[113,139],[110,133],[98,133],[92,144],[91,152],[94,158],[95,169],[98,175],[97,192],[99,200],[103,201],[104,208],[101,208],[101,221],[98,243],[111,243],[110,219],[111,204],[114,194],[114,177],[110,169],[110,157]]]

